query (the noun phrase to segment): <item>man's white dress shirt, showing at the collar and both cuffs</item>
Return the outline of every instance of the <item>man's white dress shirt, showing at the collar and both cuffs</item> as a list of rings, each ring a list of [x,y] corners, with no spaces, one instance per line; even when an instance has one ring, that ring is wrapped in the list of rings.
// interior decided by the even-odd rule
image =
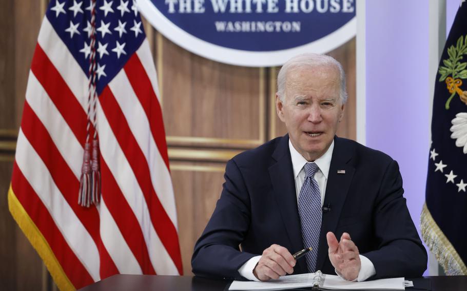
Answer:
[[[302,185],[305,180],[304,165],[308,161],[294,148],[290,139],[288,141],[288,147],[290,150],[290,157],[292,159],[292,167],[294,169],[295,191],[297,194],[297,201],[298,201],[300,190],[302,189]],[[315,160],[315,163],[318,165],[319,171],[315,173],[314,178],[318,182],[319,191],[321,193],[321,206],[323,206],[323,203],[324,203],[324,195],[326,193],[327,177],[329,174],[329,166],[331,163],[331,158],[333,157],[333,151],[334,151],[334,140],[329,146],[329,148],[327,149],[327,151],[324,153],[324,155],[322,155],[321,157]],[[375,275],[376,270],[375,270],[375,266],[368,258],[362,255],[359,255],[359,256],[360,256],[360,261],[361,261],[361,268],[360,268],[360,272],[358,273],[357,281],[361,282]],[[255,269],[256,264],[258,263],[260,258],[261,256],[256,256],[246,261],[246,263],[244,263],[238,270],[240,275],[251,281],[259,281],[258,278],[256,278],[256,276],[253,274],[253,270]],[[336,274],[340,276],[337,270],[336,270]]]

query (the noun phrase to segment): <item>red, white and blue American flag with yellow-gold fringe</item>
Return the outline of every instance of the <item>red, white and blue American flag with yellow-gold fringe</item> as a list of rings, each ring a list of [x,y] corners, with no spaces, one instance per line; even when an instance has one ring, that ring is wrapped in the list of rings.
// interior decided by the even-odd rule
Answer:
[[[153,64],[132,0],[50,2],[29,73],[8,199],[60,289],[119,273],[183,272]],[[87,130],[92,73],[98,99]],[[101,200],[85,207],[78,203],[80,177],[94,128]]]

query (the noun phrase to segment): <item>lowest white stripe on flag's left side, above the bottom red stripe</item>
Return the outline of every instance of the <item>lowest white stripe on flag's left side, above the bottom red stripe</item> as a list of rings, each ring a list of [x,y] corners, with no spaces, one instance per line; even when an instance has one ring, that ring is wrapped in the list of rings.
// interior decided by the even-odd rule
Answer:
[[[26,105],[26,103],[25,103]],[[64,239],[94,280],[99,280],[99,253],[89,233],[54,183],[50,172],[20,129],[16,163],[31,187],[50,212]],[[37,175],[41,173],[41,175]],[[13,188],[16,191],[15,188]],[[16,192],[15,192],[16,193]],[[32,200],[31,200],[32,201]],[[30,201],[23,202],[25,206]],[[33,219],[34,220],[34,219]],[[34,220],[35,222],[35,220]],[[52,247],[52,250],[56,250]]]

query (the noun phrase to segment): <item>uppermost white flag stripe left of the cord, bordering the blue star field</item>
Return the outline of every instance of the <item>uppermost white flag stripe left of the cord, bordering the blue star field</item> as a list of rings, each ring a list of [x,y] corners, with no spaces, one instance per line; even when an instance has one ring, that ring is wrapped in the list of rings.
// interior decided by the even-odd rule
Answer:
[[[68,88],[73,92],[83,111],[87,110],[88,77],[81,69],[76,59],[70,53],[62,39],[57,35],[47,17],[44,17],[41,30],[37,38],[48,59],[54,65],[60,76],[65,80]]]

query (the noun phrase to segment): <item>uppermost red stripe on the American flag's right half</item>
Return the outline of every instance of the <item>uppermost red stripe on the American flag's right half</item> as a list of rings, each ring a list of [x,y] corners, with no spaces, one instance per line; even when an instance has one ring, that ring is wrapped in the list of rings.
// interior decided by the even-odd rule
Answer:
[[[151,81],[137,54],[133,54],[123,68],[149,120],[150,130],[159,149],[159,153],[164,159],[167,169],[169,169],[169,157],[167,155],[162,110],[159,100],[152,90]]]

